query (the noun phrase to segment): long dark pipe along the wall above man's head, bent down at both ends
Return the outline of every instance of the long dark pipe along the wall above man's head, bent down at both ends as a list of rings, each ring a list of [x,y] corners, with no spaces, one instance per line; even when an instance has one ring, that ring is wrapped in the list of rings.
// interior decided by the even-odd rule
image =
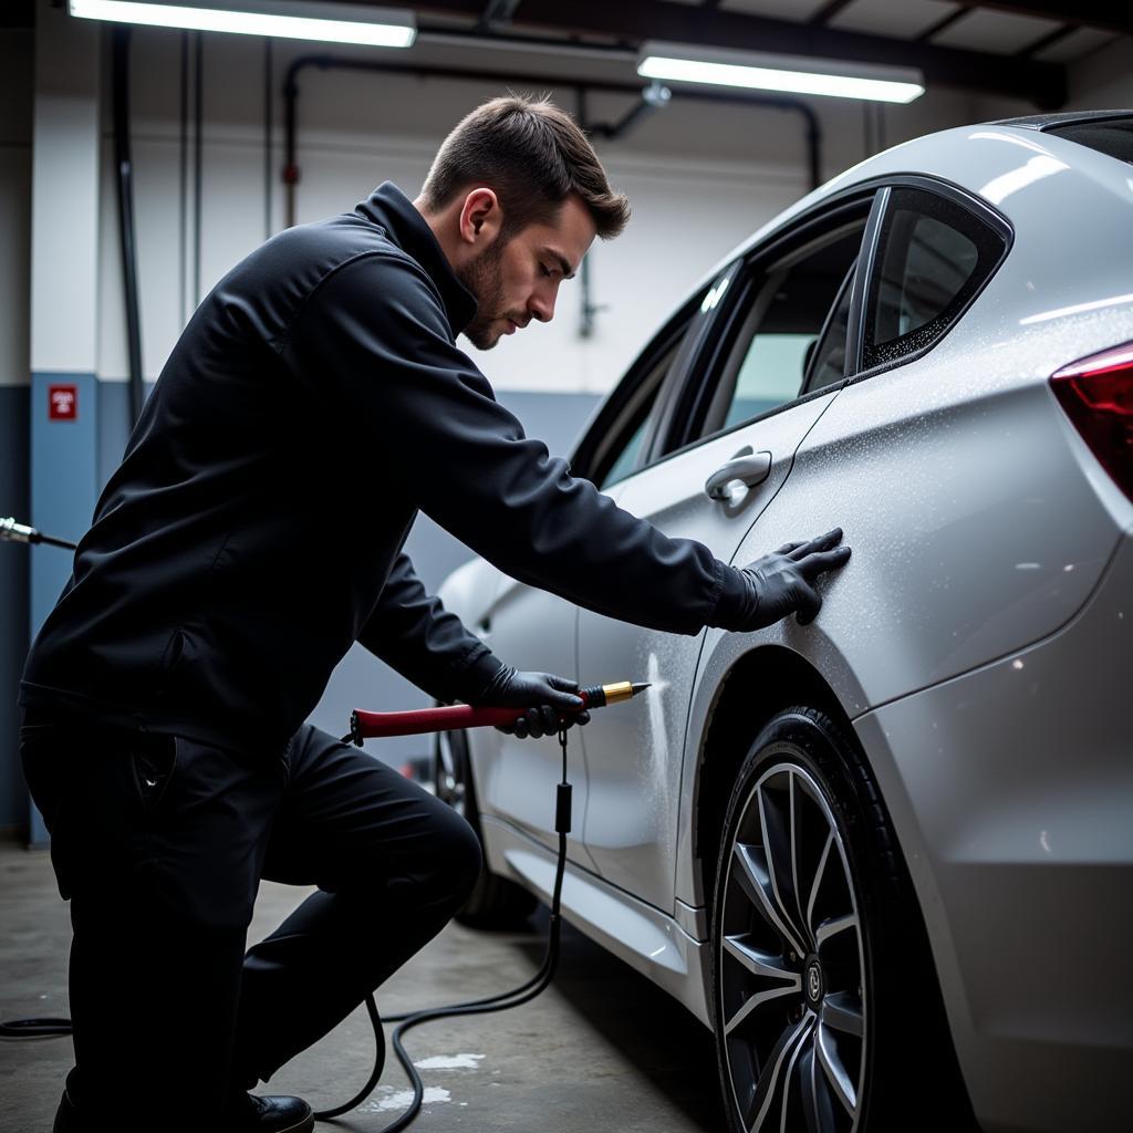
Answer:
[[[482,37],[485,42],[491,42],[491,36]],[[299,99],[299,84],[298,75],[305,67],[317,67],[320,70],[360,70],[360,71],[377,71],[387,75],[414,75],[421,78],[455,78],[455,79],[468,79],[470,82],[499,82],[499,83],[523,83],[536,80],[535,76],[531,75],[517,75],[511,71],[494,71],[494,70],[474,70],[471,68],[460,68],[460,67],[423,67],[416,63],[387,63],[377,62],[373,59],[348,59],[337,56],[299,56],[298,59],[293,60],[291,66],[287,69],[287,75],[283,79],[283,100],[284,100],[284,163],[283,163],[283,184],[287,187],[287,225],[290,228],[295,224],[296,218],[296,185],[299,181],[299,165],[296,161],[296,134],[298,131],[298,111],[297,103]],[[573,86],[579,91],[607,91],[616,92],[623,94],[636,94],[639,97],[644,90],[648,90],[647,86],[642,87],[636,83],[610,83],[610,82],[585,82],[585,83],[572,83],[569,79],[551,80],[552,84],[557,84],[560,86]],[[761,94],[725,94],[723,92],[716,91],[674,91],[674,97],[685,99],[693,102],[717,102],[717,103],[731,103],[736,105],[752,105],[752,107],[768,107],[775,110],[791,110],[803,116],[807,121],[807,151],[808,151],[808,167],[810,172],[810,187],[818,188],[820,168],[819,168],[819,151],[821,147],[821,130],[818,125],[818,117],[811,110],[807,103],[801,102],[798,99],[782,99],[775,95],[761,95]],[[636,119],[642,113],[640,105],[634,107],[630,111],[630,118]],[[623,119],[623,122],[625,120]],[[591,129],[597,129],[599,131],[617,129],[617,126],[613,127],[591,127]],[[624,127],[623,127],[624,130]]]

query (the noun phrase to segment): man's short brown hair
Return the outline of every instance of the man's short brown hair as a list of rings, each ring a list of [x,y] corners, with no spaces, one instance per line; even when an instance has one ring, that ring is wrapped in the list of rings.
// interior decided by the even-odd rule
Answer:
[[[424,204],[438,212],[472,185],[495,191],[505,236],[548,223],[571,193],[581,198],[604,240],[617,236],[630,219],[629,199],[610,187],[586,135],[547,99],[512,94],[463,118],[433,160],[421,188]]]

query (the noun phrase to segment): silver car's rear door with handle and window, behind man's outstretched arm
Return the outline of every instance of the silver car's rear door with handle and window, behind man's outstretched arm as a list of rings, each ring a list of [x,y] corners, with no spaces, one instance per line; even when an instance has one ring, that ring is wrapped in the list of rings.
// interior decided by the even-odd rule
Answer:
[[[866,195],[811,216],[717,280],[685,380],[657,415],[653,459],[627,478],[620,506],[732,559],[844,381],[869,206]],[[582,730],[587,851],[612,884],[678,914],[679,787],[702,640],[589,611],[578,619],[583,680],[650,683],[646,696],[596,713]]]

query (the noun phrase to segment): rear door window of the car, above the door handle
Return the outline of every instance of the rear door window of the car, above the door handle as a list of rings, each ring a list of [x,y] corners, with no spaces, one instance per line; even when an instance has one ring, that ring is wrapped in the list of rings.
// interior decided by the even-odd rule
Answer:
[[[735,348],[721,368],[704,435],[734,428],[793,401],[816,358],[820,357],[824,384],[841,380],[850,301],[845,284],[863,228],[864,219],[854,221],[753,281]],[[832,308],[843,298],[846,307],[838,321]]]

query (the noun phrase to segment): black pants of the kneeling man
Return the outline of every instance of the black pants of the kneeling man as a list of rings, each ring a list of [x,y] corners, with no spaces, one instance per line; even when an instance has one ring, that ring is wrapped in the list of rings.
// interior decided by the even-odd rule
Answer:
[[[270,766],[31,721],[20,755],[70,900],[68,1090],[92,1128],[219,1128],[233,1090],[348,1015],[479,872],[462,818],[313,727]],[[246,953],[261,878],[318,891]]]

